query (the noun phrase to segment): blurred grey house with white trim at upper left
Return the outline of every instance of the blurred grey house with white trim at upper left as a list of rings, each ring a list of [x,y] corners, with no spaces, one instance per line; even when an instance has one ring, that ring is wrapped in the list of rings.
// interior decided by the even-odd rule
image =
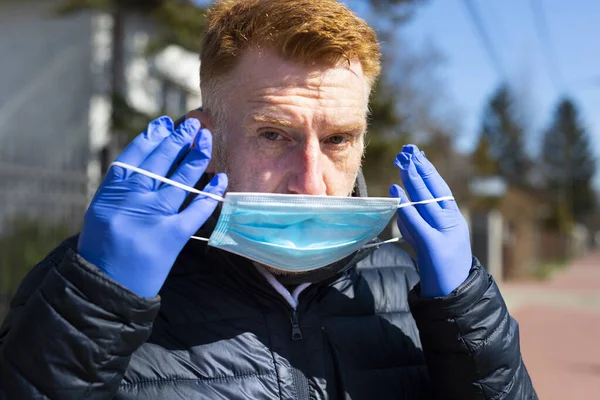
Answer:
[[[109,15],[55,15],[59,0],[0,2],[0,233],[25,214],[78,229],[109,142]],[[125,20],[125,98],[177,117],[201,104],[199,61],[177,47],[144,55],[154,31]]]

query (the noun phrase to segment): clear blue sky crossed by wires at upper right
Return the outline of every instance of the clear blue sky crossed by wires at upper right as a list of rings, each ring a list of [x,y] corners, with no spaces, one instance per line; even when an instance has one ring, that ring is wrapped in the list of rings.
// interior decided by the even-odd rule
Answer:
[[[509,81],[526,94],[534,134],[549,123],[562,91],[540,44],[530,0],[472,0]],[[600,156],[600,1],[539,0],[566,92],[580,106]],[[463,0],[429,0],[403,28],[405,38],[434,44],[445,56],[440,72],[460,112],[458,147],[474,146],[483,105],[501,78]],[[595,77],[595,82],[591,78]],[[539,137],[530,146],[536,148]],[[600,163],[599,163],[600,164]],[[595,185],[600,189],[600,171]]]

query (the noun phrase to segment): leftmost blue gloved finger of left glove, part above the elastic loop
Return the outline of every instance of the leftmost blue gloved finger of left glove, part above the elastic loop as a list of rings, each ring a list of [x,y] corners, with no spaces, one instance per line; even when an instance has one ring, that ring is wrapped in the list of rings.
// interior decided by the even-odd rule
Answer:
[[[173,132],[171,118],[160,117],[151,121],[146,130],[133,139],[119,154],[116,161],[138,167],[171,132]]]

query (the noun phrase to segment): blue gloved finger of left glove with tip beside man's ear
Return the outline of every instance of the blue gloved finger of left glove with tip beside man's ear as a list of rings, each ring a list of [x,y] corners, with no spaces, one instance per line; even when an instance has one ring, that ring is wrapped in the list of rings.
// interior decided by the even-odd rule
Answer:
[[[196,135],[194,146],[169,178],[193,187],[206,170],[210,162],[211,153],[212,135],[208,129],[201,129]],[[181,204],[188,195],[188,192],[185,190],[168,184],[164,184],[160,192],[162,198],[175,210],[181,207]]]

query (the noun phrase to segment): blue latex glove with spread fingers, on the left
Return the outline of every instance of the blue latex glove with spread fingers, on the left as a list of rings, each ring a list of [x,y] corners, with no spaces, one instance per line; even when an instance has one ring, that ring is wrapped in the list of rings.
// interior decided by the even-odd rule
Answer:
[[[210,132],[199,128],[193,118],[177,130],[170,118],[158,118],[117,161],[165,176],[193,147],[169,178],[194,186],[212,152]],[[220,174],[204,191],[221,196],[226,187],[227,176]],[[190,236],[217,206],[216,200],[199,195],[179,212],[186,195],[182,189],[112,166],[85,213],[79,254],[134,293],[156,296]]]

